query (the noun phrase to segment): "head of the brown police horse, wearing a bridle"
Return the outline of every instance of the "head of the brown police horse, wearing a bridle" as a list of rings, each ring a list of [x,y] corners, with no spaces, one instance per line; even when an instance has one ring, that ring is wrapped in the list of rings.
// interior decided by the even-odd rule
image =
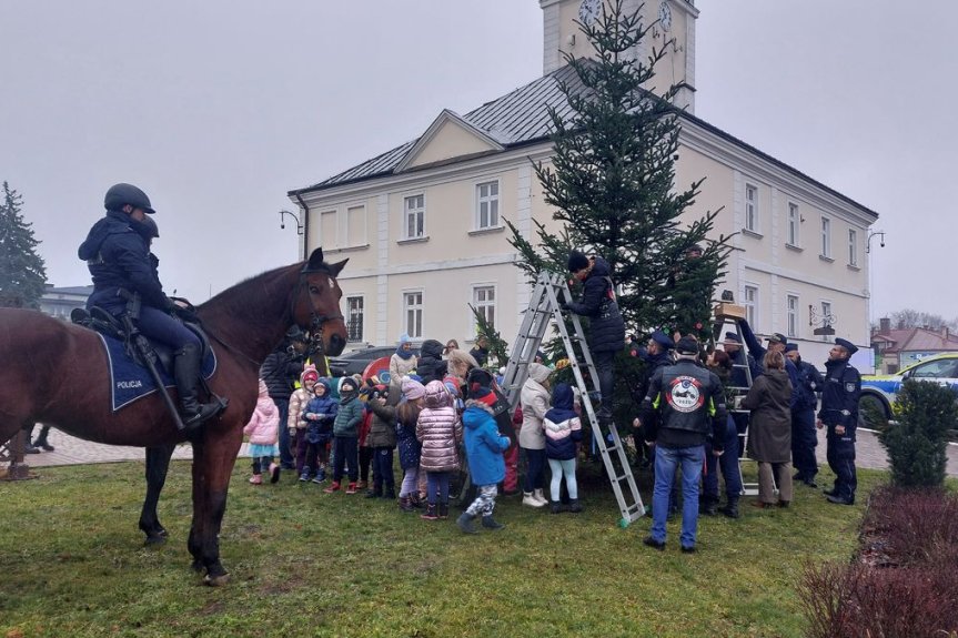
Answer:
[[[340,288],[336,276],[350,260],[336,264],[323,261],[323,249],[316,249],[300,271],[300,285],[293,300],[293,321],[310,331],[313,345],[322,354],[336,356],[346,346],[346,324],[340,312]]]

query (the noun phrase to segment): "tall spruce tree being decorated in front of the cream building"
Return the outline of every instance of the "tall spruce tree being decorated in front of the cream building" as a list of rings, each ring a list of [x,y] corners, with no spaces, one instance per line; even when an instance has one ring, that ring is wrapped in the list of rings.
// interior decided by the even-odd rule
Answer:
[[[510,223],[510,242],[531,280],[542,270],[564,272],[573,247],[601,255],[613,269],[632,330],[663,327],[704,337],[730,247],[727,236],[709,237],[718,211],[685,219],[702,180],[673,190],[680,126],[672,100],[678,89],[659,95],[643,89],[672,41],[653,47],[647,60],[636,59],[653,27],[642,23],[641,11],[626,13],[623,0],[613,0],[592,24],[579,23],[596,59],[565,57],[577,75],[577,82],[561,87],[571,115],[549,110],[555,153],[551,165],[535,164],[545,201],[563,227],[553,234],[536,222],[536,246]],[[688,260],[695,244],[702,256]]]

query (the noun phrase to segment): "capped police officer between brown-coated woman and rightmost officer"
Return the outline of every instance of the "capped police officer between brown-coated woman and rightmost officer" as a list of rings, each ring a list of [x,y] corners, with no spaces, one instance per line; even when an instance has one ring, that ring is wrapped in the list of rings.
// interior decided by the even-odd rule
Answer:
[[[798,401],[791,406],[791,464],[796,469],[793,479],[808,487],[818,487],[815,483],[815,475],[818,474],[815,408],[818,407],[818,393],[825,382],[814,365],[801,361],[798,345],[790,343],[785,346],[785,356],[798,368]]]

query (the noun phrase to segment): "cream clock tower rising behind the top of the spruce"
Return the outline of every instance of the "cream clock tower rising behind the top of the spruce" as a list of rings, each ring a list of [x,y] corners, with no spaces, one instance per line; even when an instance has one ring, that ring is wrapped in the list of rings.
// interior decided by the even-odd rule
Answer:
[[[609,0],[539,0],[543,12],[543,73],[551,73],[565,64],[563,53],[576,58],[595,55],[595,49],[579,31],[576,20],[589,23],[602,16]],[[642,0],[624,0],[623,10],[634,12]],[[676,84],[679,90],[675,103],[689,113],[695,112],[695,20],[698,10],[693,0],[645,0],[643,24],[653,28],[635,51],[636,59],[645,60],[652,48],[665,47],[666,55],[655,67],[653,79],[656,92]]]

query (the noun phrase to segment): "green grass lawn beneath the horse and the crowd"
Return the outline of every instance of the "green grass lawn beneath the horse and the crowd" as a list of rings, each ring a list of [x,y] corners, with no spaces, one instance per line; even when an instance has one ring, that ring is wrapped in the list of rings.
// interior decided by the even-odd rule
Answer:
[[[173,463],[160,503],[170,541],[149,549],[137,529],[141,463],[0,483],[0,638],[797,637],[806,561],[851,556],[867,495],[887,479],[859,470],[854,507],[801,485],[788,509],[744,498],[738,520],[703,517],[699,551],[683,555],[678,520],[664,553],[641,543],[649,519],[621,529],[594,466],[579,470],[583,514],[500,497],[506,529],[465,536],[455,507],[430,523],[384,499],[322,494],[292,473],[255,487],[241,459],[221,536],[232,581],[209,588],[189,568],[189,470]]]

